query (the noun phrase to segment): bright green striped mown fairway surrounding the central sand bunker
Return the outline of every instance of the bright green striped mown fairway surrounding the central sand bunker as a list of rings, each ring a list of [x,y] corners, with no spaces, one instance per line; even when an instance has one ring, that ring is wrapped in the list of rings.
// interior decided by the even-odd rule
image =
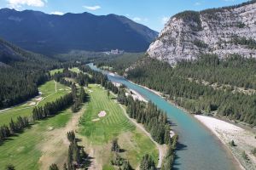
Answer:
[[[109,139],[113,139],[125,131],[135,129],[135,126],[124,115],[119,104],[113,99],[108,99],[107,90],[97,85],[90,85],[89,90],[90,102],[81,120],[80,133],[86,136],[95,144],[107,143]],[[109,96],[113,98],[113,96]],[[106,111],[107,115],[98,117],[100,111]],[[93,122],[99,118],[99,121]]]

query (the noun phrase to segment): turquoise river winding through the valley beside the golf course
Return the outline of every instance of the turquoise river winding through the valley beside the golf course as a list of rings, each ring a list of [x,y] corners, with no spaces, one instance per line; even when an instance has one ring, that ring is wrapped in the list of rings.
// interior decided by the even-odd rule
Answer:
[[[89,64],[95,71],[102,71]],[[178,134],[177,156],[174,169],[181,170],[234,170],[238,169],[233,157],[223,144],[193,116],[170,104],[150,90],[127,81],[119,75],[108,74],[111,82],[119,82],[151,100],[161,110],[166,111],[172,122],[172,129]]]

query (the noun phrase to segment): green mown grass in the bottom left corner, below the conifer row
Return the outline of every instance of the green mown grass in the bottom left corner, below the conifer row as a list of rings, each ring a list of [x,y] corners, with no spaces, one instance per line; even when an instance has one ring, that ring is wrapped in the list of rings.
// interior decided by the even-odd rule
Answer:
[[[40,146],[50,140],[45,138],[44,133],[49,132],[49,127],[54,130],[65,127],[71,116],[70,110],[62,111],[59,115],[37,122],[24,133],[11,137],[0,145],[0,170],[10,163],[17,170],[38,170],[39,159],[44,154]]]

